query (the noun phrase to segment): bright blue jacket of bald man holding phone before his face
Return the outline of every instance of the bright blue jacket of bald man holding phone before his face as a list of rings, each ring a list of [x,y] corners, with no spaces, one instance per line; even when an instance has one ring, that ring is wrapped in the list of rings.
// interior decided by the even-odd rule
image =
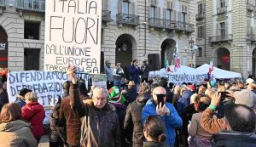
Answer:
[[[180,116],[177,115],[177,111],[171,103],[166,103],[166,107],[170,110],[170,116],[162,116],[162,120],[165,122],[166,127],[166,144],[174,146],[175,144],[175,128],[182,127],[183,121]],[[152,99],[148,99],[148,102],[143,107],[143,124],[148,116],[155,116],[156,114],[156,105],[152,102]]]

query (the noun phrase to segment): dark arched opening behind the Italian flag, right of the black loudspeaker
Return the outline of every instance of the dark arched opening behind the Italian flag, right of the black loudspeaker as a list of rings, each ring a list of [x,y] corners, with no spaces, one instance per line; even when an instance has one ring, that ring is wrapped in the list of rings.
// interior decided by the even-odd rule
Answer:
[[[166,61],[168,65],[174,64],[173,52],[176,42],[173,39],[166,39],[161,44],[161,68],[166,68]]]

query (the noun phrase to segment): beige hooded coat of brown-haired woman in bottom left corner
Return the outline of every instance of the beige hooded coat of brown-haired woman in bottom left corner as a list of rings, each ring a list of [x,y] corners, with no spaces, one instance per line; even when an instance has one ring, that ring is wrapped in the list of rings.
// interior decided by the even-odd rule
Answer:
[[[1,147],[37,147],[30,124],[21,120],[0,124]]]

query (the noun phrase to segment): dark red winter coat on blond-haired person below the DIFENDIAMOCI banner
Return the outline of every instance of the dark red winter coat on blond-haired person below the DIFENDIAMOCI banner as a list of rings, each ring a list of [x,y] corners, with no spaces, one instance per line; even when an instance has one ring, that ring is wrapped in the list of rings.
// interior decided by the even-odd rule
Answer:
[[[44,135],[43,121],[45,117],[44,107],[38,102],[31,102],[21,108],[22,119],[31,123],[32,133],[35,138]]]

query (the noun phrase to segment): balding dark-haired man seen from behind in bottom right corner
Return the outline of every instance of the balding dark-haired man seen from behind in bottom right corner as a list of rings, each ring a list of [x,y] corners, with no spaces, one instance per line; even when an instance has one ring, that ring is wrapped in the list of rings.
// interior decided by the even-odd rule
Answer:
[[[256,146],[256,116],[251,108],[246,105],[227,105],[224,118],[228,130],[213,135],[212,147]]]

